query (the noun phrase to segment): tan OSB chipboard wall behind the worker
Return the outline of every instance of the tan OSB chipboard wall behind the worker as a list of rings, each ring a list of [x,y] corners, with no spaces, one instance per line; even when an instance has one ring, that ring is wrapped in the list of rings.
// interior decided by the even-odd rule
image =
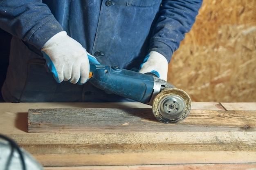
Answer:
[[[168,82],[194,102],[256,102],[256,0],[204,0]]]

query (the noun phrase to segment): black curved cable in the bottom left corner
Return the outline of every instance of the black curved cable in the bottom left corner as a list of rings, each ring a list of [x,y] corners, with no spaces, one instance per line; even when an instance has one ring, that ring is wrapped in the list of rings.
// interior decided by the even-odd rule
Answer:
[[[9,142],[9,144],[11,145],[11,154],[9,155],[9,158],[7,160],[7,165],[6,165],[6,168],[5,170],[8,170],[8,166],[9,164],[11,163],[11,159],[13,157],[13,152],[14,152],[14,149],[16,149],[20,155],[20,161],[21,161],[21,164],[22,164],[22,170],[26,170],[26,165],[25,165],[25,160],[24,160],[24,157],[23,157],[23,154],[22,154],[22,151],[20,150],[19,146],[16,144],[15,141],[13,141],[12,139],[10,139],[9,137],[6,137],[4,135],[1,135],[0,134],[0,138],[6,140]]]

